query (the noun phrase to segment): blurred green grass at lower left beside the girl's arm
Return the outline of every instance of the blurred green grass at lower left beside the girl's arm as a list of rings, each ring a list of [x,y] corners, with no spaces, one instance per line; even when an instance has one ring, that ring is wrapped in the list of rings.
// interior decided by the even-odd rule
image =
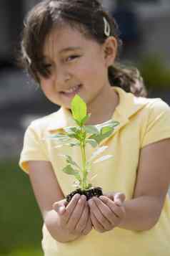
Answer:
[[[42,218],[29,177],[15,160],[1,161],[0,175],[0,255],[41,256]]]

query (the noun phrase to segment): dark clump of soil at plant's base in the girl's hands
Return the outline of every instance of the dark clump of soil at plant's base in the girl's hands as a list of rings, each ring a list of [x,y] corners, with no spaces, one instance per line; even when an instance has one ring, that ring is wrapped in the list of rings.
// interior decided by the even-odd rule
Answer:
[[[74,194],[80,194],[80,195],[86,196],[87,201],[91,199],[93,196],[99,197],[103,195],[102,189],[100,187],[95,187],[95,188],[86,189],[86,190],[76,189],[66,196],[66,202],[69,203],[71,201],[71,198],[74,196]]]

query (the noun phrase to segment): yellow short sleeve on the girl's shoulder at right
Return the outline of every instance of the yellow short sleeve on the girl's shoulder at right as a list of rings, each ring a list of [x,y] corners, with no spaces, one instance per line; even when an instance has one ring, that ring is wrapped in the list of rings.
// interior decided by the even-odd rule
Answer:
[[[170,108],[163,100],[157,99],[149,110],[141,148],[165,138],[170,138]]]

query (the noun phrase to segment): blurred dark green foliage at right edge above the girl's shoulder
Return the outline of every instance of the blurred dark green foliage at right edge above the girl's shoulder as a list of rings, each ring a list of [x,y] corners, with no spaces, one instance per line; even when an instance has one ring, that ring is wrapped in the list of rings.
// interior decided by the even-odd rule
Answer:
[[[170,89],[170,68],[158,55],[153,54],[142,58],[138,68],[147,88]]]

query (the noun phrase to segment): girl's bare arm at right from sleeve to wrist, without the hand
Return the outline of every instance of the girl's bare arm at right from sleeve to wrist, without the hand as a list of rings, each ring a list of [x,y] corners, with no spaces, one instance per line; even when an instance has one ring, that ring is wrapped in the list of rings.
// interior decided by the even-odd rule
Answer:
[[[170,181],[170,139],[141,149],[133,199],[124,202],[124,229],[146,230],[158,222]]]

